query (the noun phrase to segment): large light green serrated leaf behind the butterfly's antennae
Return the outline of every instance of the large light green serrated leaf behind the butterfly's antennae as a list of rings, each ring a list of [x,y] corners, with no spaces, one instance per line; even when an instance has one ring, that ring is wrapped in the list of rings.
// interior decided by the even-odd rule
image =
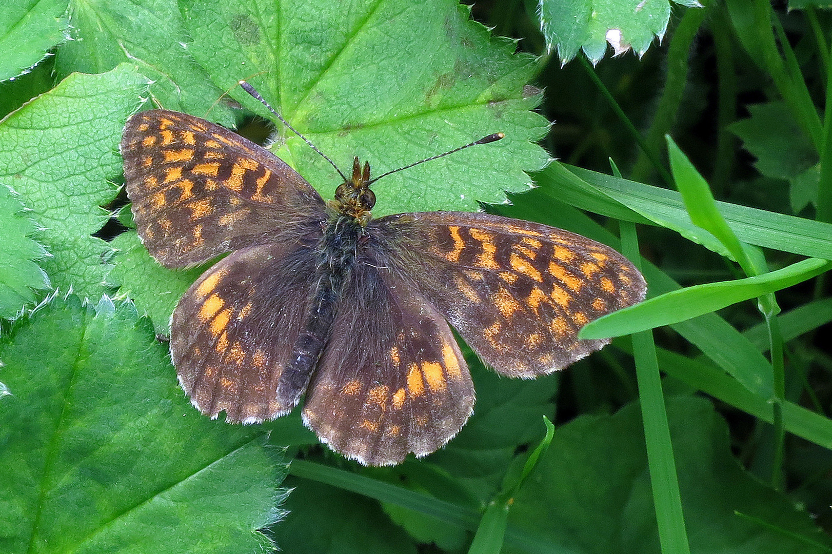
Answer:
[[[505,133],[503,141],[379,181],[374,215],[478,210],[478,200],[502,202],[506,190],[527,190],[526,171],[548,161],[534,144],[547,121],[529,111],[539,95],[524,96],[536,59],[490,37],[454,0],[349,9],[302,0],[284,0],[279,9],[247,0],[184,3],[189,51],[216,86],[273,117],[236,87],[245,77],[342,171],[359,156],[380,175]],[[340,184],[332,167],[290,131],[277,131],[275,153],[331,196]]]

